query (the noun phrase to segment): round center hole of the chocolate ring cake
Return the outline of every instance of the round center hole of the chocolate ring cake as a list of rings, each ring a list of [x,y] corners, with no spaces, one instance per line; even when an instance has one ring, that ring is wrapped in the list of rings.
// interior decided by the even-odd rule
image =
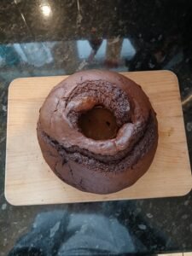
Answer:
[[[79,116],[79,130],[85,137],[108,140],[116,137],[118,129],[114,114],[100,105]]]

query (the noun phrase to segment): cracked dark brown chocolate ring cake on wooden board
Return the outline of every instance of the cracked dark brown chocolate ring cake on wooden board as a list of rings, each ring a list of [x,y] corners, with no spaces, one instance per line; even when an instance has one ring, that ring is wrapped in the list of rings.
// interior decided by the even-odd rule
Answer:
[[[44,160],[65,183],[91,193],[125,189],[148,170],[157,119],[141,86],[119,73],[74,73],[50,91],[38,119]]]

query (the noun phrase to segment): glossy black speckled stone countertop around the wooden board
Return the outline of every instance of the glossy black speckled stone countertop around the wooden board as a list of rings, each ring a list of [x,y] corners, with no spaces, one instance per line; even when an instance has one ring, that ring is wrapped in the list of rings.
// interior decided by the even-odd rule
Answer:
[[[19,255],[55,255],[63,252],[63,244],[70,250],[74,233],[81,235],[75,235],[73,244],[79,244],[79,237],[84,243],[84,230],[91,224],[89,236],[101,225],[107,236],[113,234],[108,243],[115,244],[96,244],[95,237],[92,253],[93,248],[115,253],[192,251],[192,192],[177,198],[33,207],[10,206],[3,192],[7,94],[11,80],[19,77],[90,68],[172,70],[180,84],[192,160],[191,25],[192,2],[184,0],[0,3],[0,255],[24,245]],[[73,224],[78,219],[82,225],[77,231]],[[26,254],[28,245],[42,252]]]

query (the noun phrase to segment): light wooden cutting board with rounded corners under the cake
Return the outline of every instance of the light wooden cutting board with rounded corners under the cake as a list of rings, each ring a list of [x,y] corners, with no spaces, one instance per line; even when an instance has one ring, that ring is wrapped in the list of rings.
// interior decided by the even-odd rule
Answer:
[[[185,195],[192,188],[177,77],[169,71],[124,73],[141,84],[157,113],[159,145],[139,181],[118,193],[95,195],[62,183],[44,162],[36,137],[38,110],[67,76],[15,79],[9,86],[5,196],[13,205],[111,201]]]

